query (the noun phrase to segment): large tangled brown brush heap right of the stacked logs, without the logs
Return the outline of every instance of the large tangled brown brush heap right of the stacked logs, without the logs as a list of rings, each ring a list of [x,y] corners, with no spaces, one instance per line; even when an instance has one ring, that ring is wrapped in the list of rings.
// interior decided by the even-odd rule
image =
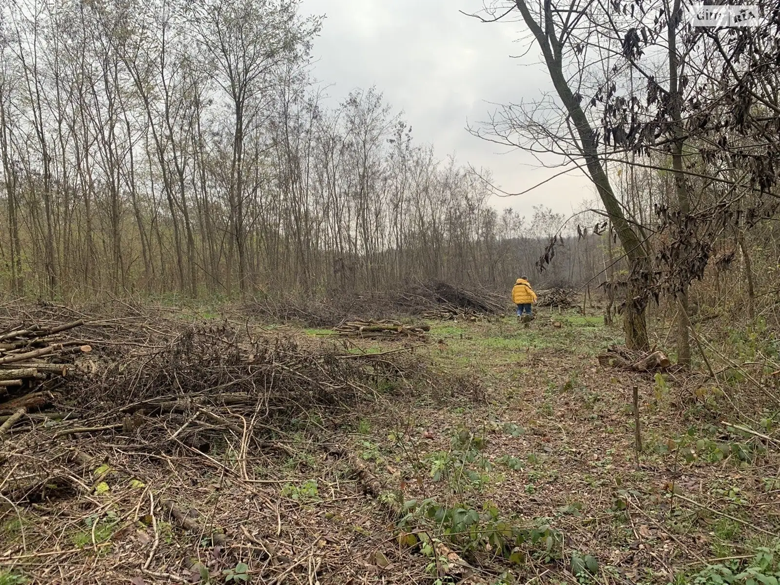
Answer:
[[[0,495],[34,502],[51,485],[77,489],[63,471],[73,454],[66,445],[79,441],[94,451],[103,443],[96,437],[152,454],[207,453],[226,440],[283,451],[261,438],[269,428],[369,397],[383,381],[402,388],[424,367],[405,352],[341,355],[335,346],[304,349],[293,339],[254,338],[229,324],[180,327],[168,343],[139,351],[142,344],[127,342],[108,359],[95,342],[91,371],[73,368],[56,399],[46,401],[56,412],[41,411],[41,403],[0,420],[16,444],[5,456],[20,463]],[[25,453],[43,463],[33,470],[20,459]]]

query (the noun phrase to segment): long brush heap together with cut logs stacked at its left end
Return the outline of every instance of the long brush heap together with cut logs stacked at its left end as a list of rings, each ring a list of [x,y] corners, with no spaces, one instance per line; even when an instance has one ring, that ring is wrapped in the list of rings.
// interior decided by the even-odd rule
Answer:
[[[302,348],[295,339],[278,335],[254,335],[227,321],[206,326],[158,318],[152,324],[147,315],[144,324],[133,315],[49,326],[51,317],[46,317],[39,321],[46,326],[12,326],[0,334],[0,415],[25,409],[13,420],[0,418],[0,424],[8,422],[6,429],[14,426],[15,432],[59,420],[58,436],[133,433],[148,426],[150,418],[183,424],[183,417],[198,410],[198,420],[225,431],[244,409],[252,420],[289,420],[290,414],[371,395],[378,378],[404,381],[405,374],[421,367],[405,353],[392,360],[346,360],[356,356],[342,356],[335,347]],[[427,328],[397,321],[365,325],[371,329],[365,335],[419,337]],[[79,326],[92,333],[91,346],[60,338]],[[18,392],[4,402],[11,388]],[[225,408],[231,411],[226,417],[219,413]],[[76,432],[69,432],[71,427]]]

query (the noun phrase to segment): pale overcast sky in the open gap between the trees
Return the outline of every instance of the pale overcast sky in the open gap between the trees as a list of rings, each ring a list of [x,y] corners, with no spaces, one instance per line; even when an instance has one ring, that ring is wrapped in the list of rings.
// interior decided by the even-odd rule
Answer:
[[[304,11],[326,16],[314,44],[314,76],[334,101],[377,87],[438,158],[454,153],[462,164],[490,168],[502,190],[517,193],[554,171],[473,137],[466,125],[487,119],[491,103],[537,97],[550,82],[534,51],[512,58],[527,48],[518,42],[520,23],[485,24],[459,12],[481,7],[481,0],[303,0]],[[590,183],[573,174],[492,203],[530,216],[537,204],[566,213],[593,198]]]

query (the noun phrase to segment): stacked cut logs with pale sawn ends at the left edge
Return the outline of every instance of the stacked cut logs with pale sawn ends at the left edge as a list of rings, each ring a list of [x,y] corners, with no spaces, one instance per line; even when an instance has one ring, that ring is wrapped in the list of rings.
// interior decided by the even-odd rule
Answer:
[[[52,378],[68,374],[68,357],[91,350],[82,341],[68,341],[64,332],[83,321],[41,327],[23,324],[0,333],[0,412],[34,406],[38,390]]]

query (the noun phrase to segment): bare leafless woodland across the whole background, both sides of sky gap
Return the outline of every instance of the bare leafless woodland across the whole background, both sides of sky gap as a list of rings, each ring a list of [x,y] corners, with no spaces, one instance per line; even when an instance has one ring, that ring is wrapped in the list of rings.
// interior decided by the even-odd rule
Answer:
[[[714,300],[723,286],[739,291],[745,307],[771,294],[780,257],[777,73],[762,65],[778,51],[771,41],[754,37],[756,62],[739,62],[745,43],[692,34],[682,20],[653,23],[648,6],[630,16],[594,8],[587,27],[551,21],[568,34],[551,41],[534,28],[536,9],[518,2],[512,13],[556,93],[506,106],[473,133],[546,151],[562,167],[584,161],[599,197],[569,218],[492,206],[489,171],[417,144],[380,90],[325,107],[310,76],[321,20],[299,9],[297,0],[6,6],[3,288],[51,299],[327,295],[416,279],[505,289],[525,272],[612,296],[621,282],[638,286],[626,306],[640,313],[659,294],[687,303],[699,280]],[[711,58],[686,61],[683,48]]]

